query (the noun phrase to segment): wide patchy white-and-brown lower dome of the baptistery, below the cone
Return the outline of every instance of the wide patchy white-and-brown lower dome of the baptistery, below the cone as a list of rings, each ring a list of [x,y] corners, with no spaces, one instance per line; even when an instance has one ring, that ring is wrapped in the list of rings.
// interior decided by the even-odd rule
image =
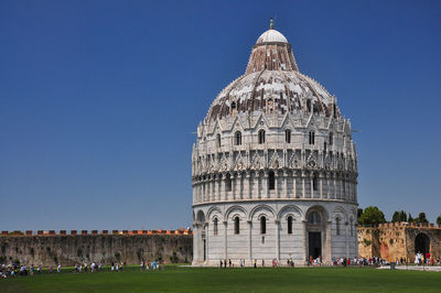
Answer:
[[[238,115],[303,111],[330,116],[334,104],[335,98],[326,89],[299,72],[262,70],[243,75],[222,90],[206,119],[223,119],[233,110]]]

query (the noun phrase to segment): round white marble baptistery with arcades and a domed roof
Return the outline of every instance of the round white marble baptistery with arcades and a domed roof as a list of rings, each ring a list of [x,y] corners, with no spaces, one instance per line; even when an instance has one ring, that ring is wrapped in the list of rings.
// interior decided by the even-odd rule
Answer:
[[[351,122],[272,21],[197,127],[192,181],[193,264],[357,256]]]

